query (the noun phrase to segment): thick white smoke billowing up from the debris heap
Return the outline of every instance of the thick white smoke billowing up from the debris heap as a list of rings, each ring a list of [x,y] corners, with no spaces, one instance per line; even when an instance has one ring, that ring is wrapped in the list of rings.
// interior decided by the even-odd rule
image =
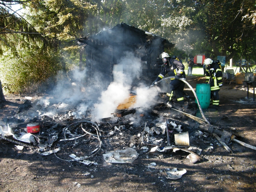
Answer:
[[[111,113],[116,112],[118,105],[124,103],[131,93],[132,82],[138,80],[142,72],[141,60],[134,56],[132,52],[126,52],[121,57],[118,64],[114,66],[114,81],[108,87],[104,81],[104,74],[97,74],[90,84],[85,81],[86,70],[78,69],[68,74],[68,78],[58,81],[55,89],[51,93],[54,95],[51,100],[42,98],[38,104],[45,107],[54,107],[52,111],[45,111],[48,116],[54,116],[58,110],[70,110],[75,118],[85,117],[87,111],[91,112],[92,120],[99,121],[101,118],[113,117]],[[70,80],[71,79],[71,80]],[[105,87],[105,90],[104,90]],[[107,87],[107,89],[106,89]],[[131,108],[137,108],[138,113],[142,113],[154,104],[158,87],[147,89],[145,85],[135,88],[135,104]],[[52,105],[51,103],[55,103]]]

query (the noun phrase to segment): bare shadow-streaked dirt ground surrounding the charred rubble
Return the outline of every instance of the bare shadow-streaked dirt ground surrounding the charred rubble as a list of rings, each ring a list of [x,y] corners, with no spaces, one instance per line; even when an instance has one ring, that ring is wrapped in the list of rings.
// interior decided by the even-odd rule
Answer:
[[[188,83],[196,88],[203,83],[203,77],[188,77]],[[220,126],[237,135],[237,139],[256,146],[255,102],[252,93],[249,100],[247,92],[235,89],[235,84],[221,87],[219,110],[205,109],[204,115],[212,125]],[[240,85],[240,88],[242,85]],[[185,92],[192,92],[185,87]],[[27,95],[35,96],[35,95]],[[37,95],[38,96],[38,95]],[[0,108],[0,119],[10,116],[13,110],[22,103],[19,99],[25,95],[8,95],[10,101]],[[197,112],[198,116],[200,113]],[[152,124],[147,116],[141,117],[141,124],[120,130],[113,137],[102,139],[102,149],[88,159],[97,164],[87,166],[79,162],[68,162],[58,159],[54,154],[39,155],[36,149],[18,150],[12,142],[0,140],[0,190],[1,191],[255,191],[255,154],[256,151],[235,142],[228,143],[233,151],[229,153],[212,136],[199,137],[190,132],[190,146],[202,149],[201,159],[192,164],[185,151],[149,153],[152,146],[140,144],[138,134],[142,133],[145,122]],[[125,120],[125,119],[124,119]],[[159,122],[161,123],[161,122]],[[107,126],[109,124],[109,126]],[[103,132],[115,130],[117,124],[101,123]],[[120,134],[122,133],[122,134]],[[172,141],[173,142],[173,141]],[[59,142],[60,143],[60,142]],[[67,151],[56,153],[67,157],[66,153],[77,156],[92,151],[98,146],[97,140],[89,137],[78,140],[75,144],[64,146]],[[65,145],[68,145],[66,143]],[[102,154],[126,147],[134,147],[139,156],[132,164],[106,163]],[[147,146],[143,152],[140,148]],[[53,149],[53,148],[52,148]],[[66,156],[65,156],[66,154]],[[148,166],[156,163],[156,166]],[[177,180],[167,178],[168,169],[186,169],[186,173]],[[89,174],[90,173],[90,174]]]

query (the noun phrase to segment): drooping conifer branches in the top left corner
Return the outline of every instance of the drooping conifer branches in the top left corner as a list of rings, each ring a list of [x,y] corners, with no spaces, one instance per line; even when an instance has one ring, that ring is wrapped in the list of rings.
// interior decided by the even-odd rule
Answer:
[[[38,33],[24,16],[14,12],[13,4],[28,1],[0,1],[0,54],[11,50],[15,54],[20,48],[45,49],[50,46],[44,34]]]

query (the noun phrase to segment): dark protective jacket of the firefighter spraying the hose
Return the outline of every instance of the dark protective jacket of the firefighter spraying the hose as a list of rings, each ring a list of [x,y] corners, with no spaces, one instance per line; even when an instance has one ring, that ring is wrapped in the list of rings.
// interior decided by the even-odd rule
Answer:
[[[186,75],[184,73],[185,66],[178,60],[169,58],[167,60],[167,65],[164,66],[164,69],[156,78],[156,81],[161,80],[166,74],[168,76],[179,76],[182,79],[186,79]],[[174,78],[171,78],[173,80]]]

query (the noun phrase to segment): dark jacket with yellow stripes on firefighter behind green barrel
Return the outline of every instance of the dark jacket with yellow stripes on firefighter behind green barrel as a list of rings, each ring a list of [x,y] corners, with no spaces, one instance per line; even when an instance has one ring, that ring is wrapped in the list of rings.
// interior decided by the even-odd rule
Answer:
[[[206,83],[211,85],[211,91],[219,90],[222,86],[222,70],[217,63],[212,63],[211,67],[206,69]]]

